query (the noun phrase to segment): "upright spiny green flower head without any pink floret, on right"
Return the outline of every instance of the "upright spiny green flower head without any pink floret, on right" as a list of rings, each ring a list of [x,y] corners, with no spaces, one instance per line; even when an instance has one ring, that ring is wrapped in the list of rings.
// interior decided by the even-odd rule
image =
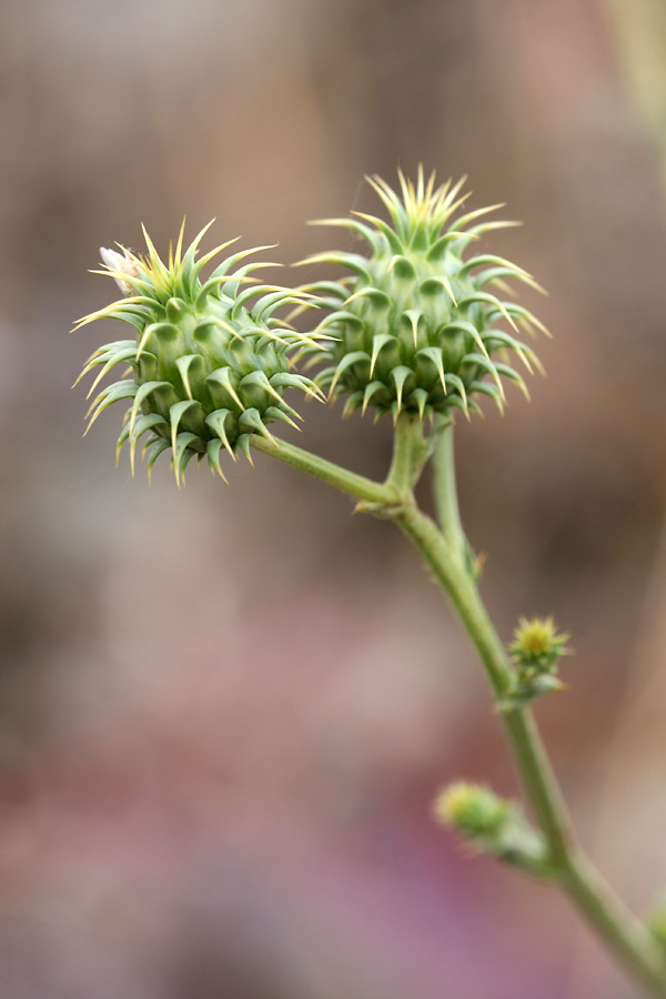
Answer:
[[[477,410],[474,395],[490,395],[502,408],[503,379],[525,394],[521,375],[506,361],[517,354],[532,371],[539,367],[533,351],[498,323],[545,331],[531,312],[503,302],[493,289],[506,291],[506,279],[538,287],[522,268],[488,253],[464,259],[470,244],[511,222],[476,220],[501,205],[478,209],[452,221],[465,201],[463,181],[435,190],[434,173],[424,182],[400,174],[400,196],[380,178],[369,178],[391,215],[392,224],[354,212],[356,219],[325,219],[315,224],[342,225],[362,236],[370,256],[346,251],[319,253],[304,264],[326,262],[352,271],[339,281],[319,281],[307,290],[331,313],[317,327],[332,334],[330,363],[316,376],[333,397],[349,394],[344,413],[377,415],[401,410],[424,416],[452,407]],[[488,377],[490,376],[490,380]]]

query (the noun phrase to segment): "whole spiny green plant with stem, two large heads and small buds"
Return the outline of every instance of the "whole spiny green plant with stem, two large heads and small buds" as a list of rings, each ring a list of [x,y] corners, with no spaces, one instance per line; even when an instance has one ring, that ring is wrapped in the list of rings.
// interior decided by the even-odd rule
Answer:
[[[229,245],[198,256],[208,226],[186,250],[181,230],[167,262],[148,234],[145,256],[122,246],[102,250],[101,273],[115,279],[122,295],[79,326],[112,317],[132,332],[97,350],[83,369],[99,369],[92,394],[112,369],[127,366],[93,398],[90,423],[125,400],[118,451],[128,442],[132,471],[142,437],[149,474],[155,458],[170,452],[179,485],[195,456],[224,477],[222,461],[239,453],[251,460],[254,448],[353,496],[357,511],[393,521],[478,653],[531,814],[486,787],[462,783],[440,795],[436,818],[475,848],[559,885],[646,992],[666,997],[666,916],[657,911],[645,922],[633,916],[582,851],[532,715],[533,700],[562,686],[557,664],[568,636],[551,618],[521,619],[505,647],[482,603],[480,562],[458,513],[455,416],[470,417],[483,397],[502,408],[506,382],[527,394],[515,363],[539,369],[523,333],[544,327],[498,295],[511,294],[509,282],[538,285],[522,268],[477,250],[486,233],[515,224],[485,218],[501,205],[463,212],[462,182],[435,188],[434,174],[425,181],[421,170],[415,183],[401,174],[400,191],[379,178],[370,183],[389,219],[354,213],[325,220],[351,230],[362,252],[310,258],[304,263],[344,273],[295,291],[252,276],[261,266],[246,262],[252,250],[228,256],[204,279],[205,265]],[[287,305],[294,314],[316,315],[319,324],[297,332],[276,315]],[[281,424],[301,418],[285,400],[289,390],[344,396],[344,414],[387,414],[394,440],[385,481],[275,437]],[[434,518],[414,492],[428,463]]]

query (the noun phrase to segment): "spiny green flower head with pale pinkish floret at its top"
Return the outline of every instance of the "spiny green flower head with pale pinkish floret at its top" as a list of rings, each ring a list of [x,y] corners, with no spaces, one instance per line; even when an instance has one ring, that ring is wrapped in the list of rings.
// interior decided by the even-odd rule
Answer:
[[[113,276],[125,295],[77,326],[111,317],[134,327],[133,339],[97,350],[80,375],[101,367],[90,395],[112,367],[130,365],[128,377],[107,385],[94,398],[88,428],[107,406],[130,400],[118,453],[129,441],[133,472],[138,441],[148,433],[143,453],[150,451],[149,476],[155,458],[171,448],[176,482],[194,455],[206,455],[210,467],[224,477],[222,447],[234,458],[239,450],[250,457],[251,434],[272,440],[266,424],[280,420],[295,425],[292,416],[297,414],[284,401],[286,389],[321,395],[310,379],[290,371],[290,355],[304,347],[316,350],[316,335],[296,333],[273,315],[287,303],[303,304],[303,296],[254,283],[249,273],[261,264],[239,264],[256,250],[226,258],[202,283],[202,269],[230,245],[198,260],[209,225],[184,253],[181,229],[168,265],[145,230],[145,259],[124,248],[121,253],[102,250],[105,270],[97,273]]]

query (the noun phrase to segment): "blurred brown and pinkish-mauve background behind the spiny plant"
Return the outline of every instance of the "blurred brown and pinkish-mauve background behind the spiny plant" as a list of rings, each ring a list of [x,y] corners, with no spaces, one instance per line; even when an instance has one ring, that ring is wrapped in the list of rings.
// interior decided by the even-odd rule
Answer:
[[[362,178],[468,174],[549,290],[547,377],[461,425],[484,594],[573,633],[538,706],[584,844],[666,887],[666,14],[660,0],[4,0],[0,981],[6,999],[629,999],[554,890],[434,827],[516,794],[474,655],[391,525],[263,458],[149,490],[98,248],[242,234],[284,264]],[[490,241],[488,241],[490,242]],[[299,272],[270,280],[301,281]],[[529,291],[529,290],[528,290]],[[109,335],[107,335],[109,334]],[[120,335],[123,335],[121,331]],[[299,443],[381,477],[390,427]]]

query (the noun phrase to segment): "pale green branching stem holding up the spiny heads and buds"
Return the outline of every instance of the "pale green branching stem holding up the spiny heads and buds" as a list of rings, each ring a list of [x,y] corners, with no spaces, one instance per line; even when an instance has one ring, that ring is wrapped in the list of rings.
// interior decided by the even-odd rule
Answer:
[[[434,492],[440,527],[423,514],[414,486],[428,448],[420,422],[398,416],[391,471],[385,483],[320,458],[281,441],[253,436],[252,446],[307,472],[360,501],[360,508],[394,519],[420,552],[474,644],[497,702],[509,690],[512,667],[481,599],[458,514],[453,428],[435,430]],[[576,844],[571,819],[532,712],[515,708],[500,717],[525,795],[546,838],[549,870],[625,969],[656,999],[666,999],[666,955],[648,929],[616,897]]]

